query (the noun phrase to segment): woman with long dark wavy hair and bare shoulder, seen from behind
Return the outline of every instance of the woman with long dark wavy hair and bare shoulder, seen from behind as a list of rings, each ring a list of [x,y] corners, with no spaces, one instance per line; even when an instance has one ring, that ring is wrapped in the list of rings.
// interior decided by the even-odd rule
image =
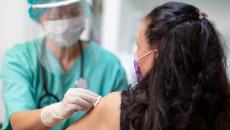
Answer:
[[[169,2],[137,35],[139,83],[104,97],[68,130],[229,130],[229,83],[220,37],[207,14]]]

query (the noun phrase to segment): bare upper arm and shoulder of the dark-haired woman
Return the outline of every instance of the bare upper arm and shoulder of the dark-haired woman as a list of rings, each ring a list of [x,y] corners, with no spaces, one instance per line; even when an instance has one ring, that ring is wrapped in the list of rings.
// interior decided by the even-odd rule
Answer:
[[[67,130],[119,130],[120,103],[118,92],[103,97],[96,108],[89,111]]]

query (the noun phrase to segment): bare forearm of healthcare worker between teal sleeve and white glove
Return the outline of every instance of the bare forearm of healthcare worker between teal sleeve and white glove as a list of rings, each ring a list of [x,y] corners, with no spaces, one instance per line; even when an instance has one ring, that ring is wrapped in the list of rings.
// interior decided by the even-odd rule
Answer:
[[[16,112],[10,117],[13,130],[49,130],[41,122],[41,110]]]

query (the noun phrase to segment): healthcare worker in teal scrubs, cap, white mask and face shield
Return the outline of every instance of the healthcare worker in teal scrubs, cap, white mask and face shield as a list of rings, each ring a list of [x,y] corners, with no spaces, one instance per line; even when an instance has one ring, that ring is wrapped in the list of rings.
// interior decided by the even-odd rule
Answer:
[[[96,44],[85,0],[29,3],[30,17],[45,36],[5,54],[3,130],[63,130],[91,109],[99,95],[127,89],[126,75],[118,59]]]

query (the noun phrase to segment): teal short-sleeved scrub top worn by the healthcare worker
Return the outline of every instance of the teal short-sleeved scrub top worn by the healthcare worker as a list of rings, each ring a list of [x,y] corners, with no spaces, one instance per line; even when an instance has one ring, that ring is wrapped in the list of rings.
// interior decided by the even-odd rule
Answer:
[[[6,118],[3,130],[12,130],[9,117],[13,113],[37,109],[38,100],[44,93],[37,51],[37,46],[41,46],[42,42],[42,39],[38,39],[16,45],[5,54],[2,80]],[[84,79],[88,82],[89,90],[105,96],[110,92],[128,88],[125,71],[113,54],[91,41],[84,49],[83,55]],[[80,77],[81,60],[78,58],[72,68],[64,72],[51,53],[48,57],[56,64],[52,66],[55,71],[46,72],[47,87],[49,92],[62,99],[69,88],[76,87],[75,81]],[[63,130],[83,115],[83,112],[75,112],[71,118],[62,121],[51,130]]]

